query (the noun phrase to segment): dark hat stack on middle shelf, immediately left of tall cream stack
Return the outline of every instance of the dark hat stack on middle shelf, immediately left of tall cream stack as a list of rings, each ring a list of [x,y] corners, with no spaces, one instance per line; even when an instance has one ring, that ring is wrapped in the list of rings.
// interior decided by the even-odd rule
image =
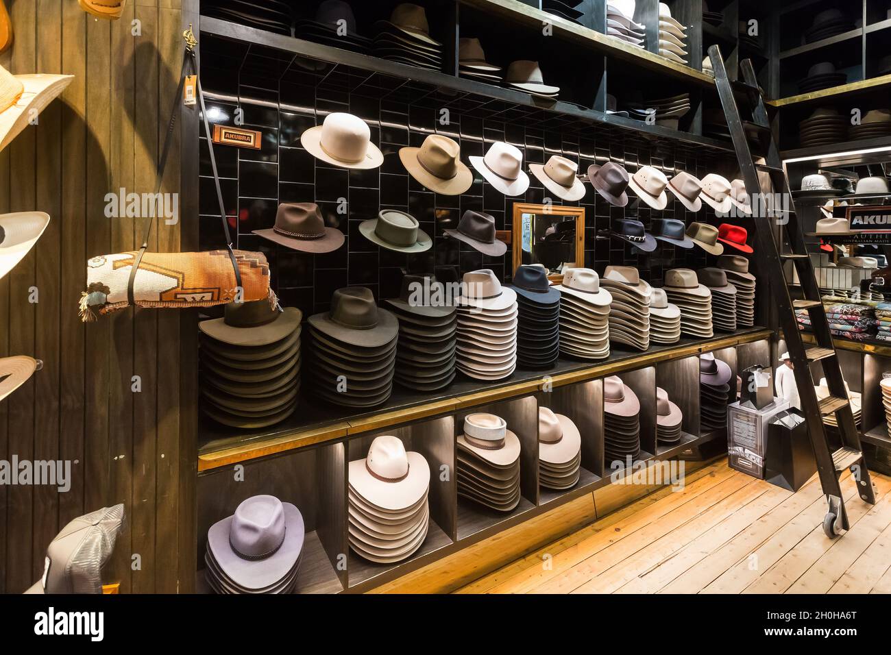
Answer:
[[[399,384],[419,391],[444,389],[455,376],[458,315],[445,285],[433,276],[405,275],[399,298],[385,300],[399,321]]]

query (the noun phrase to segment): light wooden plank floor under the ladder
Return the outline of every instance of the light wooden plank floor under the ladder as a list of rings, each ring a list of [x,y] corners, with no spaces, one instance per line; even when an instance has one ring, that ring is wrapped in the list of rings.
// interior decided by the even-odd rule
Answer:
[[[461,594],[888,594],[891,478],[877,503],[842,479],[851,529],[823,534],[814,476],[797,493],[726,461],[463,586]]]

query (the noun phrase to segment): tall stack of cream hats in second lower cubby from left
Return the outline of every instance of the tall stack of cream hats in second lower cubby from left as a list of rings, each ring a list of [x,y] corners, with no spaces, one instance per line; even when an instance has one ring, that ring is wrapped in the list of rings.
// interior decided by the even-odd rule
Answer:
[[[349,463],[349,545],[380,564],[417,551],[430,524],[430,467],[420,453],[405,452],[398,437],[372,441],[368,456]]]

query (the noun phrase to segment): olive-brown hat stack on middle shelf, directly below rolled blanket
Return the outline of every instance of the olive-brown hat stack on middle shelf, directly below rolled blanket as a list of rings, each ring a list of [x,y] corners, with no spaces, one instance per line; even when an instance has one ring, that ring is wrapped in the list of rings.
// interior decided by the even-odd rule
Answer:
[[[233,428],[264,428],[294,413],[300,389],[300,320],[268,300],[232,302],[202,321],[201,409]]]

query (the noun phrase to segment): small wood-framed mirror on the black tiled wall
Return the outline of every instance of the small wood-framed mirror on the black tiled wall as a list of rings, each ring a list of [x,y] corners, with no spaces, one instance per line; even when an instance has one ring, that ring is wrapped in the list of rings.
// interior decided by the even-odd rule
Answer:
[[[513,203],[513,270],[541,264],[562,282],[564,268],[584,266],[584,208]]]

